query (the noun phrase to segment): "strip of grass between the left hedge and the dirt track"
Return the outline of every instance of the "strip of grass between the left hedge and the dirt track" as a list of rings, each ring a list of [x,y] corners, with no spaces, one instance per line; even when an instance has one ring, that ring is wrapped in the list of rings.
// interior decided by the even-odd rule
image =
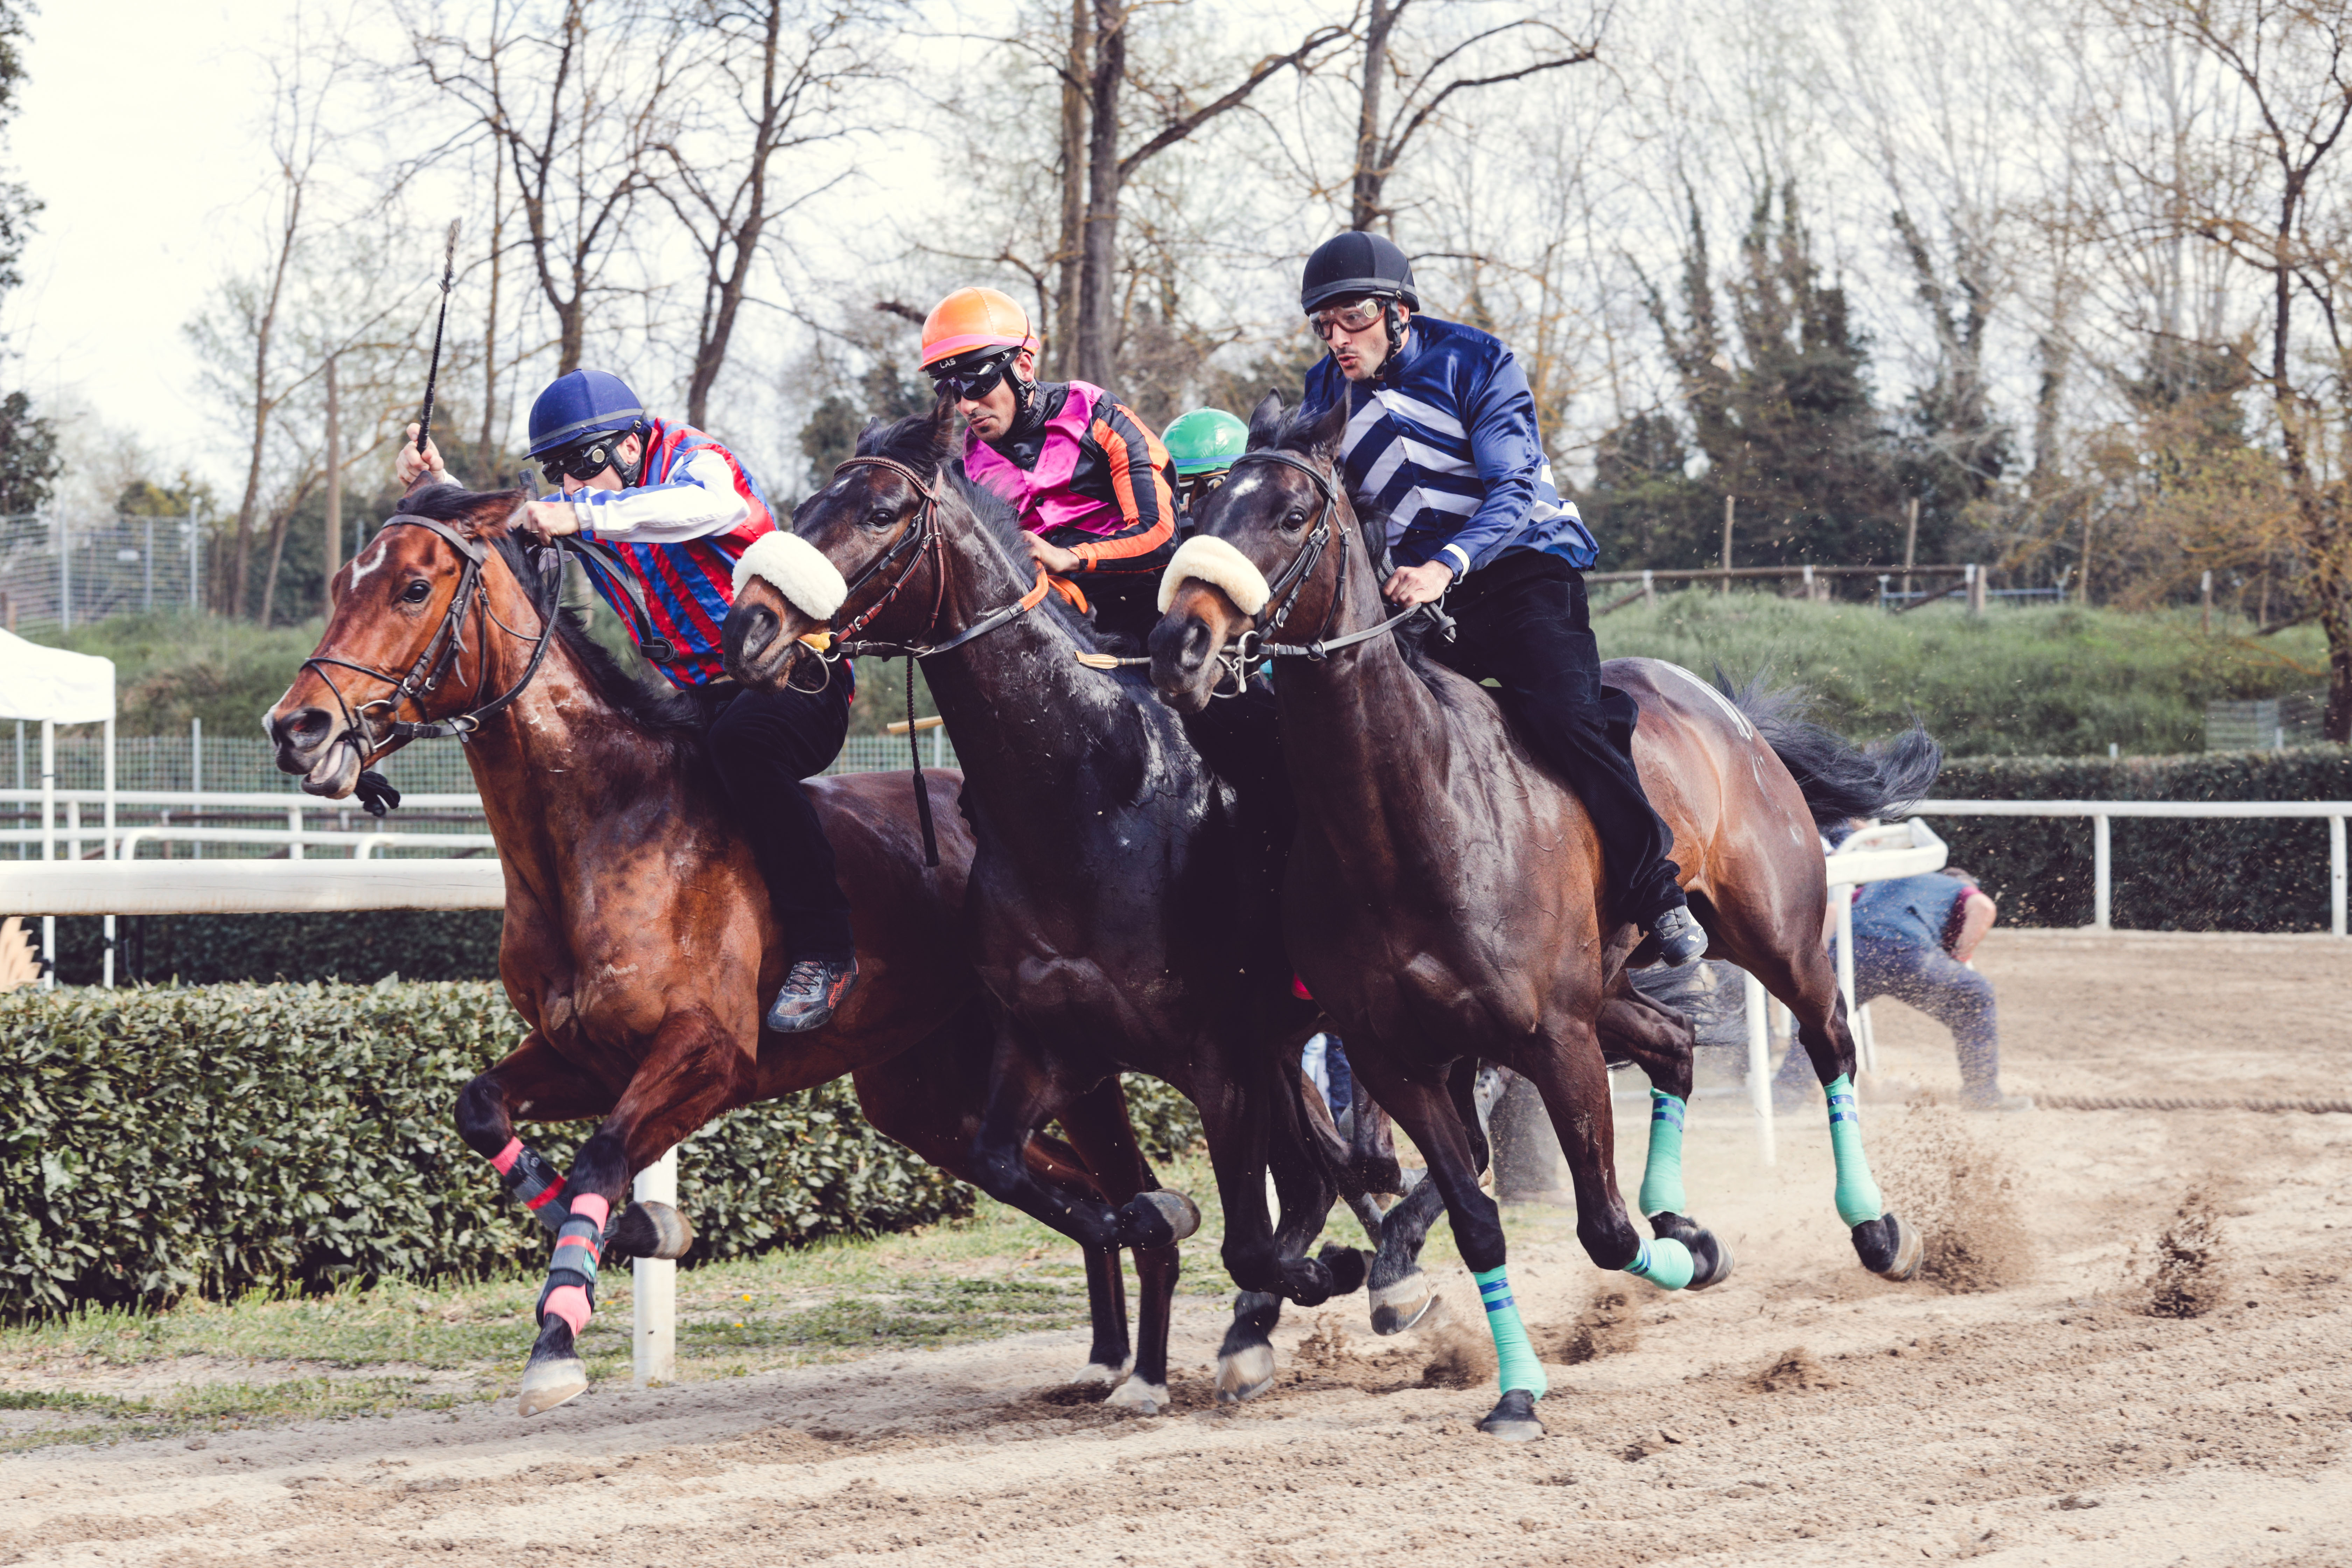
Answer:
[[[1178,1291],[1195,1302],[1225,1298],[1232,1281],[1218,1262],[1223,1215],[1207,1159],[1169,1161],[1162,1180],[1202,1206]],[[1345,1208],[1327,1234],[1364,1246]],[[1428,1258],[1451,1255],[1439,1225]],[[256,1291],[0,1326],[0,1453],[506,1399],[532,1347],[539,1284],[517,1274],[313,1298]],[[677,1378],[741,1378],[1084,1321],[1077,1248],[981,1199],[950,1225],[680,1272]],[[630,1276],[614,1269],[581,1338],[593,1378],[628,1375],[628,1326]]]

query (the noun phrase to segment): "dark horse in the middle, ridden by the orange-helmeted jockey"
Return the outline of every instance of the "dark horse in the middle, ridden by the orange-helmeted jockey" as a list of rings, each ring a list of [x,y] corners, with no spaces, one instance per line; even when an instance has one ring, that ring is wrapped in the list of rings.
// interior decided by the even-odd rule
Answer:
[[[1364,1276],[1352,1248],[1305,1258],[1338,1180],[1301,1093],[1315,1009],[1291,994],[1279,849],[1136,675],[1080,663],[1105,644],[1028,567],[1011,510],[964,480],[957,433],[943,402],[858,440],[793,520],[811,545],[804,581],[739,588],[727,668],[746,684],[790,679],[814,663],[800,637],[826,623],[922,656],[964,766],[974,964],[1004,1009],[1002,1048],[1047,1067],[1023,1079],[1000,1058],[981,1185],[1089,1248],[1164,1244],[1152,1194],[1063,1192],[1016,1159],[1016,1138],[1117,1072],[1190,1095],[1244,1293],[1218,1392],[1247,1399],[1272,1380],[1279,1302],[1317,1305]],[[1112,1399],[1160,1408],[1167,1389],[1138,1361]]]

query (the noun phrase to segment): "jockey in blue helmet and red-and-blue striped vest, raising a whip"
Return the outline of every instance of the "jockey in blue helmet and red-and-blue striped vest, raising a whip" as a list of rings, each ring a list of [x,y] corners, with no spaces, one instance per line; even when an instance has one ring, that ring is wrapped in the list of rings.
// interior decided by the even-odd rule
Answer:
[[[637,651],[673,686],[708,698],[710,762],[790,954],[767,1027],[823,1025],[856,985],[858,961],[833,846],[800,780],[840,755],[854,684],[837,675],[821,691],[767,693],[724,682],[720,628],[736,562],[776,531],[760,482],[715,440],[652,418],[628,383],[595,369],[557,376],[532,404],[532,458],[560,489],[529,503],[524,531],[579,536],[588,581]],[[440,451],[428,442],[419,456],[409,425],[400,482],[426,470],[447,480]]]

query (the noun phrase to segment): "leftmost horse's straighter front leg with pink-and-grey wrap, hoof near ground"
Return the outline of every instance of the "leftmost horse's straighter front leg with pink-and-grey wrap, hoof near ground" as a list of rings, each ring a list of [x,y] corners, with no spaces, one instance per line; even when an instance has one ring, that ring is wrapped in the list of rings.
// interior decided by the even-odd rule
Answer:
[[[621,1100],[564,1173],[569,1204],[555,1229],[548,1284],[539,1291],[539,1340],[522,1368],[524,1415],[553,1410],[588,1392],[579,1335],[595,1314],[604,1225],[628,1192],[630,1175],[710,1117],[743,1105],[753,1086],[750,1053],[708,1009],[661,1020]]]

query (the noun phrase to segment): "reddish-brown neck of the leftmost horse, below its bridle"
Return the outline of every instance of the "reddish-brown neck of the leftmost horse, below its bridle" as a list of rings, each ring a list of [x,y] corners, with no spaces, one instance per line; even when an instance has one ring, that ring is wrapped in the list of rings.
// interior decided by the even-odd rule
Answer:
[[[492,552],[482,567],[489,611],[520,635],[499,630],[480,611],[468,616],[482,677],[468,705],[513,691],[532,665],[541,618],[522,583]],[[473,663],[473,661],[466,661]],[[616,790],[647,799],[647,790],[680,788],[668,748],[607,703],[579,656],[550,632],[539,672],[501,712],[466,738],[466,766],[482,795],[482,816],[499,856],[517,860],[524,879],[555,872],[579,849],[579,825]]]

